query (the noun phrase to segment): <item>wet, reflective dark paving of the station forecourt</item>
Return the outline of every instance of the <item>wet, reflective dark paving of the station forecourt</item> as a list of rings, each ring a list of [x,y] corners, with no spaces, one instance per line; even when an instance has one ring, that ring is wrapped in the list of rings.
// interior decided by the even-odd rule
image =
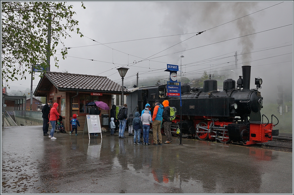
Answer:
[[[103,133],[43,136],[42,126],[1,131],[1,193],[293,193],[293,154],[177,138],[133,145]],[[166,138],[163,136],[163,141]]]

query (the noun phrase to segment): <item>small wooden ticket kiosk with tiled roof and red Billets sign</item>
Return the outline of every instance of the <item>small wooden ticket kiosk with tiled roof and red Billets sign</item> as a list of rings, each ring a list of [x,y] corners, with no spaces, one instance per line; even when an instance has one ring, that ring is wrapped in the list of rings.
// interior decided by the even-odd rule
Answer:
[[[124,95],[130,93],[129,90],[124,89]],[[121,95],[121,85],[106,76],[50,71],[44,74],[34,92],[34,96],[46,97],[46,102],[52,100],[53,103],[58,103],[58,112],[63,117],[62,122],[66,131],[71,131],[70,120],[73,114],[77,115],[80,123],[78,131],[83,131],[86,115],[90,110],[90,106],[86,104],[103,101],[111,109],[112,95]],[[101,110],[99,117],[101,127],[108,129],[110,110],[101,108],[99,110]],[[108,118],[107,123],[103,118]]]

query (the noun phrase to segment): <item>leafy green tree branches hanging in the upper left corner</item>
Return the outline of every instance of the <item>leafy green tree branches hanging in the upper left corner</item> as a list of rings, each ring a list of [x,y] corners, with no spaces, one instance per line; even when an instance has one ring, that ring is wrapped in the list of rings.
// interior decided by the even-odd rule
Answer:
[[[2,74],[8,81],[26,79],[31,74],[32,65],[37,69],[49,66],[47,56],[53,56],[58,67],[56,46],[61,43],[62,58],[66,58],[67,48],[61,37],[71,37],[69,31],[76,31],[81,37],[78,21],[72,18],[76,12],[66,2],[1,2],[2,6]],[[82,7],[86,9],[82,2]],[[51,26],[51,47],[47,44],[48,28]],[[50,36],[49,36],[50,37]],[[43,73],[40,77],[43,76]]]

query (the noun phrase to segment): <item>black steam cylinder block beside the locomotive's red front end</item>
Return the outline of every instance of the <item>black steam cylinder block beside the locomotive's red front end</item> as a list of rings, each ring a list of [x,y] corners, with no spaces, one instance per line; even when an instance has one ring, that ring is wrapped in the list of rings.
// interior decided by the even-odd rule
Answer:
[[[243,124],[229,124],[228,125],[228,134],[230,140],[232,141],[249,141],[249,130],[250,124],[243,123]]]

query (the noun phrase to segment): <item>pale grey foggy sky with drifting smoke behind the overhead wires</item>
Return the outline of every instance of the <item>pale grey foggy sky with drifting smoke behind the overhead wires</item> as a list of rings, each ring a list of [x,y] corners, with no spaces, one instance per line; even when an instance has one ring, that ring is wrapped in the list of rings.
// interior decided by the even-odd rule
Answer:
[[[100,43],[110,43],[116,41],[127,41],[156,36],[205,31],[280,2],[86,1],[84,3],[86,9],[81,7],[81,2],[67,3],[72,4],[74,11],[77,13],[73,17],[79,21],[80,31],[84,34],[84,36],[94,39]],[[135,84],[136,72],[139,72],[139,86],[141,86],[142,84],[140,85],[140,82],[143,82],[144,78],[155,77],[154,80],[158,80],[158,78],[156,78],[157,76],[167,78],[169,76],[168,72],[163,72],[163,70],[152,70],[166,69],[166,64],[180,65],[180,56],[184,55],[185,57],[182,58],[182,75],[188,77],[189,79],[199,78],[203,74],[203,71],[207,71],[208,74],[214,73],[227,75],[228,78],[235,79],[235,76],[241,75],[241,66],[252,66],[250,79],[251,89],[255,88],[254,78],[262,78],[263,84],[260,91],[264,97],[264,103],[275,102],[275,99],[277,99],[277,85],[283,84],[286,89],[293,89],[293,45],[291,45],[293,44],[293,25],[230,41],[224,40],[292,23],[293,2],[283,2],[255,14],[251,14],[228,24],[205,31],[197,36],[194,36],[195,34],[186,34],[180,36],[168,36],[162,38],[72,48],[68,50],[68,56],[85,59],[67,57],[63,60],[60,56],[58,56],[59,69],[57,69],[54,65],[51,65],[51,71],[61,72],[68,70],[69,73],[75,74],[107,76],[109,79],[121,84],[121,78],[116,68],[122,64],[125,66],[130,64],[127,66],[130,69],[124,79],[125,86],[128,87]],[[81,38],[75,33],[71,33],[71,35],[72,38],[64,40],[66,47],[98,44],[97,42],[94,42],[86,37]],[[185,39],[188,40],[184,41]],[[184,42],[177,44],[181,41]],[[219,41],[224,42],[212,44]],[[173,46],[175,44],[177,45]],[[212,45],[203,46],[207,44]],[[203,47],[191,49],[199,46]],[[279,46],[284,47],[270,49]],[[62,45],[60,44],[57,48],[61,47]],[[171,48],[167,49],[168,47]],[[186,49],[191,50],[183,51]],[[270,50],[244,54],[263,49]],[[156,54],[160,51],[162,52]],[[174,54],[178,51],[182,52]],[[235,51],[237,51],[238,54],[244,54],[240,56],[238,55],[238,64],[240,63],[237,70],[238,75],[234,75],[233,72],[230,71],[234,70],[236,72],[234,65],[235,58],[233,56]],[[57,54],[59,54],[58,52],[60,52],[60,50],[57,50]],[[149,56],[152,56],[150,58],[158,56],[163,57],[151,59],[150,61],[146,60],[138,62],[148,58]],[[202,63],[191,64],[193,62],[203,61],[213,57],[220,58],[217,56],[232,57],[216,61],[205,61]],[[94,59],[104,62],[90,61],[86,59]],[[138,63],[131,64],[133,61]],[[246,63],[248,61],[252,62]],[[53,58],[51,58],[51,64],[54,64]],[[30,86],[29,78],[30,76],[27,75],[26,81],[14,81],[13,83],[8,82],[8,84],[13,86],[11,90],[25,89]],[[34,87],[36,87],[39,80],[40,78],[36,75],[33,83],[33,85],[35,85]],[[25,86],[21,86],[19,84],[23,84]],[[8,90],[8,93],[13,94],[13,91]]]

